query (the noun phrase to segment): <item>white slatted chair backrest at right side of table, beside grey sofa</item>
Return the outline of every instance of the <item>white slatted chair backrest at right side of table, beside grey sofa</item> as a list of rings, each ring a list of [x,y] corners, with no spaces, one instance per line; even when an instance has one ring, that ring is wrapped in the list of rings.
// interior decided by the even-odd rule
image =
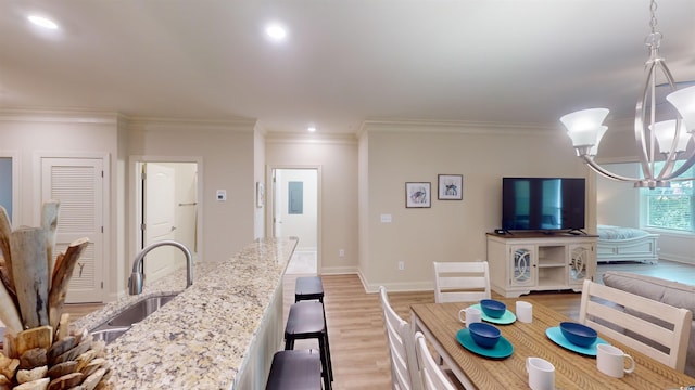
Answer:
[[[681,373],[693,313],[584,281],[579,321]]]

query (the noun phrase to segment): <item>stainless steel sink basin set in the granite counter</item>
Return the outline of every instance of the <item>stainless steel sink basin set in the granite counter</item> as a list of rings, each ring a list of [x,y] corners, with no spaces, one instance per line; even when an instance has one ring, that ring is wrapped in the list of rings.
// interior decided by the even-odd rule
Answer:
[[[160,295],[140,299],[128,309],[110,317],[101,325],[91,329],[94,340],[103,340],[106,343],[121,337],[128,332],[134,324],[144,320],[148,315],[154,313],[157,309],[168,303],[178,294]]]

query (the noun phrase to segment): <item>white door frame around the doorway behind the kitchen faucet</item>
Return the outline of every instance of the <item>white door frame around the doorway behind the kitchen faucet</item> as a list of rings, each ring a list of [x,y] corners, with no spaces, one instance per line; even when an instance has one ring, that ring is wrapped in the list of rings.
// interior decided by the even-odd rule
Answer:
[[[142,248],[142,234],[140,234],[140,225],[142,223],[142,181],[140,180],[140,171],[138,169],[140,162],[191,162],[198,165],[198,183],[195,196],[198,202],[197,208],[197,236],[198,243],[203,243],[203,157],[201,156],[151,156],[151,155],[131,155],[128,157],[128,181],[130,191],[128,191],[128,256],[124,264],[126,275],[130,275],[132,271],[132,261]],[[198,245],[197,257],[204,259],[204,245]]]

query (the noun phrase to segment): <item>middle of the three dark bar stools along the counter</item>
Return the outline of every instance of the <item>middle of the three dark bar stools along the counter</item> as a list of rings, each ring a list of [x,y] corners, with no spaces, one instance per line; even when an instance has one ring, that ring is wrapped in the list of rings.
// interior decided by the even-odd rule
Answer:
[[[330,390],[333,381],[333,367],[330,359],[324,303],[317,301],[293,303],[290,306],[290,313],[285,327],[285,350],[293,350],[295,340],[314,338],[318,340],[324,389]]]

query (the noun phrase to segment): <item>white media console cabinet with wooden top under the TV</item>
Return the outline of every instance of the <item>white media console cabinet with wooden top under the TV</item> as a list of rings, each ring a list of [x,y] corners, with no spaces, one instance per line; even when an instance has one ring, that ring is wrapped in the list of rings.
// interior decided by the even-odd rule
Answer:
[[[531,291],[582,290],[596,276],[596,236],[488,233],[491,288],[507,298]]]

